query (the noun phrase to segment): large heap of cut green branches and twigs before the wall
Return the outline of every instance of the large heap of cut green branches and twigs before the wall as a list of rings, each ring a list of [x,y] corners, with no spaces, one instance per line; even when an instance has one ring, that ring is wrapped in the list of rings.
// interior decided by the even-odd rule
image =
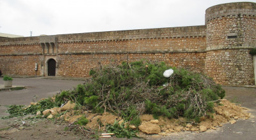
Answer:
[[[165,78],[165,70],[174,73]],[[176,69],[164,62],[122,62],[90,71],[92,81],[77,85],[75,90],[56,95],[60,106],[73,101],[97,113],[108,111],[140,125],[139,115],[148,113],[168,118],[183,116],[198,120],[213,111],[214,101],[225,90],[203,74]]]

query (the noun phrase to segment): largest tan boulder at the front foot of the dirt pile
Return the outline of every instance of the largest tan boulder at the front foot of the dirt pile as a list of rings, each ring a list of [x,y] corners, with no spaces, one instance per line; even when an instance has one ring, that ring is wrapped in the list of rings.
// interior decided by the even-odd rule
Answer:
[[[159,125],[150,122],[142,122],[139,129],[147,134],[159,134],[161,132]]]

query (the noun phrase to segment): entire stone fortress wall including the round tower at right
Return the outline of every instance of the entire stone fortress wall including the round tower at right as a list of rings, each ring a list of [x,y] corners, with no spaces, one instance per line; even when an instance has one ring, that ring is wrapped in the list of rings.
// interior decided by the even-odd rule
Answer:
[[[4,74],[88,77],[90,69],[140,59],[205,73],[222,85],[254,85],[256,3],[229,3],[206,10],[205,24],[129,31],[0,38]],[[38,65],[35,71],[35,64]]]

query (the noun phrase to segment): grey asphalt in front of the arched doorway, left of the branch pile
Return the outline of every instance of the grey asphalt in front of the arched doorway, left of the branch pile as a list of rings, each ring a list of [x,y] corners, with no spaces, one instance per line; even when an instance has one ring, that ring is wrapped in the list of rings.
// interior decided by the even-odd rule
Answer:
[[[0,116],[6,115],[5,106],[11,104],[22,104],[28,106],[30,102],[42,98],[51,97],[61,90],[76,87],[81,80],[52,80],[39,78],[13,78],[13,85],[25,86],[24,90],[1,91],[0,92]],[[0,78],[3,85],[3,78]]]

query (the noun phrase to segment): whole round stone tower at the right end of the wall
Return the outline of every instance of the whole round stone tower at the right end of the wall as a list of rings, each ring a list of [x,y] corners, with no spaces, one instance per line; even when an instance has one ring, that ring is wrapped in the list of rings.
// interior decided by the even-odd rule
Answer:
[[[221,85],[254,85],[256,3],[227,3],[205,11],[205,74]]]

